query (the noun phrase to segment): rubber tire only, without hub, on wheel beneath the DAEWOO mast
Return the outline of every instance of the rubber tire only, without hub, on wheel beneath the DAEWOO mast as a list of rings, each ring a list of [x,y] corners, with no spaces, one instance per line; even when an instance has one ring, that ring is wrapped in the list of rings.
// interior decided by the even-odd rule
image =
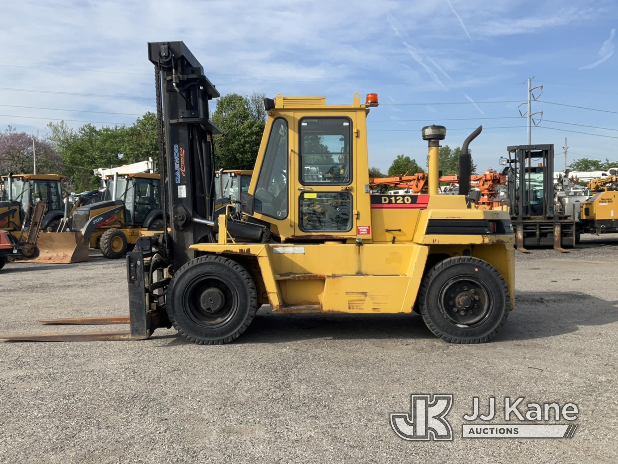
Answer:
[[[200,278],[218,280],[226,286],[231,315],[218,325],[198,321],[190,305],[185,304],[193,288],[204,288],[197,284]],[[174,273],[167,288],[166,307],[169,321],[182,337],[198,345],[223,345],[239,337],[251,324],[258,309],[258,298],[253,278],[242,265],[221,256],[208,255],[189,261]]]

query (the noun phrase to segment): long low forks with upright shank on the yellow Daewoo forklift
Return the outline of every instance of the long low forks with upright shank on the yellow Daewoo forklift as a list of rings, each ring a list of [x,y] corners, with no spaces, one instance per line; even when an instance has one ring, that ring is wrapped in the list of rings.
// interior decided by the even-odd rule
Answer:
[[[40,319],[42,324],[101,325],[129,324],[130,330],[59,332],[59,333],[16,333],[0,335],[9,341],[23,342],[95,342],[104,340],[144,340],[159,327],[158,315],[149,310],[150,294],[145,286],[145,262],[142,251],[127,253],[127,280],[129,281],[129,316],[110,317],[68,317]]]

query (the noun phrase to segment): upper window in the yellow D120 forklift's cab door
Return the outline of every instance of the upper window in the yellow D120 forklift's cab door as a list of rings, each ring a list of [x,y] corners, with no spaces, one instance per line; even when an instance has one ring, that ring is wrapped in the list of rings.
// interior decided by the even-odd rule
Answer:
[[[345,185],[352,182],[352,121],[300,119],[300,182]]]

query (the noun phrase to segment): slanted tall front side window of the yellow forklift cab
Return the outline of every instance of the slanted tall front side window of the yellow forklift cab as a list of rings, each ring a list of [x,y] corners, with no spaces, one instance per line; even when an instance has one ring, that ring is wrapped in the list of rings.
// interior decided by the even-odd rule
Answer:
[[[277,219],[287,217],[287,134],[287,121],[275,119],[253,195],[255,211]]]

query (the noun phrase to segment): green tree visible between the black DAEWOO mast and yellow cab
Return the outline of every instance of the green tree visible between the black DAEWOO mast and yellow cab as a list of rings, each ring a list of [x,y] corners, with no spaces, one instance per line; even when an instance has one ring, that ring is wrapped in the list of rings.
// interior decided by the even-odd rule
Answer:
[[[222,131],[214,137],[218,169],[252,169],[255,165],[266,121],[261,98],[256,93],[250,97],[228,93],[219,98],[212,116]]]

